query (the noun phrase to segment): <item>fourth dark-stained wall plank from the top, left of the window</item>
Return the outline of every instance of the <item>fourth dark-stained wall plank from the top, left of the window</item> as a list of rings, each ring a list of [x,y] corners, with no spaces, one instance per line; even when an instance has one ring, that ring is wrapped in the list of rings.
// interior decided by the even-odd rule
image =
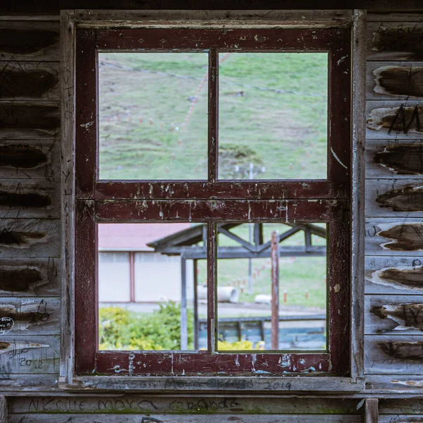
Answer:
[[[60,178],[59,140],[0,142],[0,179]]]

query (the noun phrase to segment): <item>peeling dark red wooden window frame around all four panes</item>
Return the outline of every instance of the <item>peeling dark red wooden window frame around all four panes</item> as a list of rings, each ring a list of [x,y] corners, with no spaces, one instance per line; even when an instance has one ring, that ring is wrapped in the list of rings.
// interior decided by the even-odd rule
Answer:
[[[66,23],[70,22],[67,13]],[[100,16],[102,13],[99,13]],[[303,14],[303,13],[302,13]],[[87,14],[85,13],[85,16]],[[75,24],[75,12],[72,16]],[[92,18],[92,16],[91,16]],[[98,18],[98,17],[97,17]],[[94,20],[93,20],[94,22]],[[75,195],[75,250],[73,270],[75,271],[75,339],[71,364],[68,367],[66,379],[69,381],[76,375],[102,374],[122,376],[121,371],[129,376],[145,375],[148,379],[152,376],[178,376],[196,375],[210,376],[225,374],[226,376],[253,376],[269,374],[271,376],[287,376],[315,372],[320,375],[341,376],[338,381],[351,378],[357,384],[360,378],[360,363],[357,363],[357,353],[353,350],[350,355],[350,346],[357,345],[354,340],[346,343],[345,338],[350,337],[351,331],[358,326],[350,318],[351,299],[355,289],[351,288],[351,281],[355,279],[354,271],[351,272],[351,263],[355,262],[353,249],[357,247],[351,242],[355,225],[352,212],[357,207],[357,202],[350,197],[355,189],[354,179],[348,174],[354,170],[351,161],[350,137],[351,130],[350,110],[350,56],[351,37],[350,25],[344,27],[316,28],[284,28],[275,30],[266,25],[258,25],[255,30],[234,28],[226,35],[226,43],[237,47],[231,51],[329,51],[330,72],[329,87],[342,87],[341,90],[329,90],[329,111],[336,114],[336,120],[329,118],[330,130],[328,137],[328,179],[327,180],[257,180],[240,183],[239,181],[218,180],[217,178],[217,81],[216,63],[219,51],[228,51],[226,46],[216,42],[219,29],[201,30],[198,28],[178,29],[166,28],[166,37],[179,39],[181,33],[190,35],[183,37],[188,40],[186,44],[178,44],[185,51],[191,49],[209,49],[209,72],[215,78],[209,78],[209,136],[208,136],[208,179],[204,181],[99,181],[97,180],[97,76],[96,76],[96,49],[137,49],[158,48],[158,41],[163,39],[160,25],[152,25],[154,29],[131,28],[118,30],[103,30],[99,28],[98,21],[93,25],[81,25],[73,32],[73,57],[77,83],[76,113],[73,125],[73,142],[75,142],[75,168],[76,183]],[[143,26],[143,25],[141,25]],[[148,25],[145,25],[148,26]],[[223,26],[223,25],[220,25]],[[73,31],[75,26],[73,26]],[[153,31],[153,32],[151,32]],[[154,32],[155,31],[155,32]],[[181,32],[182,31],[182,32]],[[157,37],[145,35],[155,34]],[[204,35],[202,45],[195,45],[198,33]],[[281,35],[283,32],[283,40]],[[249,37],[243,37],[245,33]],[[221,32],[222,34],[222,32]],[[211,39],[207,37],[213,35]],[[254,37],[258,35],[257,37]],[[178,36],[178,37],[177,37]],[[244,39],[241,39],[243,37]],[[139,40],[143,40],[142,47]],[[286,41],[289,42],[287,43]],[[204,45],[204,42],[209,44]],[[339,42],[340,44],[337,44]],[[285,44],[284,44],[285,43]],[[83,44],[83,49],[78,46]],[[174,46],[170,39],[168,44],[161,44],[161,51],[169,51]],[[281,49],[282,44],[282,49]],[[222,48],[220,50],[220,47]],[[90,70],[89,72],[87,70]],[[83,80],[83,84],[80,82]],[[87,90],[85,87],[94,87]],[[342,94],[340,94],[342,92]],[[82,107],[78,107],[78,104]],[[210,113],[216,111],[216,113]],[[353,114],[354,116],[354,114]],[[357,132],[357,131],[356,131]],[[335,142],[343,140],[343,142]],[[75,141],[76,140],[76,141]],[[348,140],[348,141],[345,141]],[[342,148],[340,148],[342,146]],[[348,148],[345,148],[348,146]],[[354,177],[354,175],[353,175]],[[185,184],[189,184],[189,190]],[[171,189],[163,189],[167,185]],[[214,200],[210,200],[213,198]],[[195,209],[190,207],[195,203]],[[354,204],[355,203],[355,204]],[[218,207],[216,207],[216,204]],[[147,205],[147,207],[146,207]],[[207,222],[209,235],[208,274],[209,274],[209,319],[214,321],[215,290],[214,279],[216,276],[216,223],[219,221],[285,221],[297,219],[298,221],[316,222],[323,221],[329,224],[329,350],[328,353],[247,353],[239,355],[241,365],[228,364],[234,362],[231,353],[216,353],[214,348],[214,333],[209,325],[209,348],[207,352],[197,353],[140,353],[140,352],[115,352],[97,351],[96,345],[90,340],[97,333],[97,293],[95,275],[97,274],[95,256],[97,255],[96,223],[111,221],[175,221],[175,212],[178,210],[178,221],[195,220]],[[68,219],[68,215],[66,216]],[[352,221],[352,222],[351,222]],[[66,231],[65,231],[66,232]],[[345,236],[345,233],[347,234]],[[341,240],[342,245],[336,245],[336,240]],[[342,263],[342,266],[335,264]],[[65,259],[65,267],[69,263]],[[82,270],[83,269],[83,270]],[[352,275],[353,273],[353,275]],[[337,276],[338,275],[338,276]],[[360,288],[361,289],[361,288]],[[71,301],[67,298],[68,301]],[[352,322],[352,324],[351,324]],[[354,327],[353,327],[354,326]],[[360,328],[359,328],[360,329]],[[93,348],[94,346],[94,348]],[[360,352],[359,352],[360,354]],[[242,356],[242,357],[241,357]],[[354,356],[354,358],[353,358]],[[195,364],[195,359],[201,358],[203,368]],[[253,361],[252,361],[253,359]],[[281,365],[281,362],[283,363]],[[145,366],[140,366],[142,363]],[[187,365],[187,363],[190,363]],[[317,369],[315,368],[317,366]],[[314,370],[312,369],[314,367]],[[123,370],[126,369],[126,370]],[[145,369],[145,370],[144,370]],[[358,369],[358,372],[357,372]],[[343,377],[346,376],[346,377]],[[219,379],[223,376],[216,376]],[[189,376],[184,376],[184,379]],[[144,379],[144,378],[143,378]],[[277,379],[277,378],[276,378]],[[291,379],[291,378],[289,378]],[[310,380],[310,378],[307,378]],[[318,379],[318,378],[317,378]],[[331,378],[334,381],[333,378]],[[174,380],[174,379],[173,379]],[[282,386],[281,389],[290,389],[291,386]],[[339,385],[341,386],[341,385]],[[358,384],[357,384],[358,387]],[[341,389],[341,388],[340,388]]]

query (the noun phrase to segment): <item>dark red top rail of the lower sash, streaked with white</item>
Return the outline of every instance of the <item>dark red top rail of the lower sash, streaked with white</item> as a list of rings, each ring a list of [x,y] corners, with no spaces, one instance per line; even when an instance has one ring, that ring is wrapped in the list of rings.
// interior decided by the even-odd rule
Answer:
[[[332,200],[102,200],[95,202],[95,218],[104,223],[210,219],[313,223],[329,221],[332,203]]]

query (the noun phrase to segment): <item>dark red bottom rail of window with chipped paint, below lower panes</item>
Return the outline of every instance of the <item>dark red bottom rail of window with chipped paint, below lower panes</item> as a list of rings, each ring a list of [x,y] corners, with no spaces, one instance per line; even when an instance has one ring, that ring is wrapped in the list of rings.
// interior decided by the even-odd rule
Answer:
[[[130,363],[132,363],[130,365]],[[324,374],[331,367],[327,353],[163,353],[155,351],[101,351],[96,354],[97,373],[125,376],[249,375],[272,376]]]

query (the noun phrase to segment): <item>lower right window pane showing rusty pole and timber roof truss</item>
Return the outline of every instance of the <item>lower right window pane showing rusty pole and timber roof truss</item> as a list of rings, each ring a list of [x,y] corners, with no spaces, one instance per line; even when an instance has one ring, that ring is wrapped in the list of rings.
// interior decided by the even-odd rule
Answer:
[[[226,223],[220,228],[218,350],[326,350],[326,225]],[[308,252],[304,229],[311,239]],[[259,252],[243,247],[226,231],[250,242]],[[281,238],[292,233],[278,245],[277,348],[272,348],[271,335],[270,240],[274,231]]]

